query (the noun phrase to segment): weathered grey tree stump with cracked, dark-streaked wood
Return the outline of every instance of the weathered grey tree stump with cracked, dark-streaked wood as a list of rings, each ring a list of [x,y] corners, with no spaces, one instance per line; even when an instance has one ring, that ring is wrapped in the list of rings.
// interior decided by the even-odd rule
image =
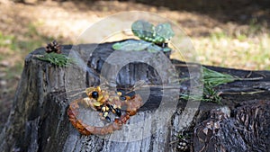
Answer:
[[[80,50],[93,47],[96,45],[75,46],[78,53]],[[68,54],[71,48],[72,46],[65,45],[62,46],[62,51]],[[148,100],[144,101],[145,104],[139,112],[131,117],[121,130],[106,136],[84,136],[80,135],[67,118],[68,95],[73,91],[70,88],[100,85],[99,74],[102,73],[102,67],[106,66],[105,60],[113,52],[112,43],[100,44],[92,54],[83,55],[89,59],[86,71],[82,73],[76,71],[76,68],[55,67],[33,57],[44,51],[43,48],[36,49],[25,58],[22,79],[14,97],[14,106],[0,135],[2,151],[267,151],[270,149],[269,71],[209,67],[233,76],[262,78],[217,86],[216,89],[222,92],[222,104],[201,103],[199,108],[192,106],[185,108],[186,104],[190,103],[178,98],[174,101],[172,95],[166,98],[166,102],[176,102],[175,111],[167,114],[166,109],[158,109],[162,105],[163,90],[157,86],[173,82],[173,78],[166,77],[169,71],[158,73],[148,64],[136,62],[127,64],[117,75],[105,78],[109,79],[109,82],[114,79],[115,82],[112,84],[115,87],[132,86],[140,79],[146,80],[146,84],[151,85],[148,88],[150,90]],[[130,57],[125,52],[121,53],[121,58]],[[151,55],[145,57],[153,58]],[[158,57],[155,55],[155,58]],[[180,78],[190,75],[189,69],[184,66],[186,63],[176,60],[171,62]],[[109,66],[107,69],[117,71],[112,65],[107,66]],[[67,72],[75,73],[76,75],[71,76],[77,76],[75,78],[84,81],[82,84],[69,82]],[[162,77],[166,77],[166,82]],[[72,87],[74,85],[76,87]],[[176,92],[179,96],[180,93],[190,89],[190,82],[181,83]],[[145,94],[143,91],[139,93]],[[157,111],[164,117],[155,117]],[[192,119],[190,115],[193,115]],[[141,123],[137,126],[138,121]]]

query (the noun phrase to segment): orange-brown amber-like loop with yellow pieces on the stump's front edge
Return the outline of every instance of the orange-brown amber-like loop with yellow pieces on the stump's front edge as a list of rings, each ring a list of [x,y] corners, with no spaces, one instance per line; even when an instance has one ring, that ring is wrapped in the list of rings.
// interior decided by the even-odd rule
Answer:
[[[76,130],[86,136],[91,134],[105,135],[112,133],[114,130],[121,130],[122,124],[126,123],[130,119],[130,116],[135,115],[139,107],[142,105],[139,94],[135,94],[133,97],[126,97],[125,101],[121,101],[119,99],[119,95],[121,94],[106,92],[105,90],[102,90],[100,86],[87,88],[85,92],[88,97],[71,102],[67,109],[67,115],[69,121],[76,128]],[[93,92],[98,93],[97,99],[94,99],[91,96]],[[115,119],[109,125],[105,125],[104,127],[94,127],[87,125],[82,120],[77,118],[79,113],[78,110],[80,108],[78,103],[83,104],[86,108],[90,106],[92,109],[101,110],[102,112],[100,112],[100,116],[103,119],[108,116],[110,111],[110,108],[107,105],[110,105],[112,112],[115,113],[115,110],[113,109],[121,109],[121,105],[125,104],[127,106],[127,112],[125,112],[124,115],[120,114],[121,118]],[[119,109],[117,109],[117,111],[119,111]]]

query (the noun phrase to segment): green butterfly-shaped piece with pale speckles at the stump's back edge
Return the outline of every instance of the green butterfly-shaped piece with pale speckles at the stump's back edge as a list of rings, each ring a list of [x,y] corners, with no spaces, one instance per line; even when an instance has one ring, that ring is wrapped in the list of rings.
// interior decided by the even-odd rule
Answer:
[[[166,47],[166,41],[170,40],[175,32],[169,23],[159,23],[155,27],[153,24],[139,20],[133,22],[131,31],[140,40],[125,40],[112,45],[112,49],[125,51],[148,50],[148,52],[167,52],[171,49]]]

